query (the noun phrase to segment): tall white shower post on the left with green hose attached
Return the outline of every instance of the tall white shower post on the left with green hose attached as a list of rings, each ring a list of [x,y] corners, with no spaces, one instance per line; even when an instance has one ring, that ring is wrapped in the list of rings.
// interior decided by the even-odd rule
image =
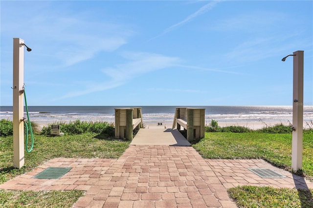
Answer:
[[[13,38],[13,166],[24,165],[24,41]]]

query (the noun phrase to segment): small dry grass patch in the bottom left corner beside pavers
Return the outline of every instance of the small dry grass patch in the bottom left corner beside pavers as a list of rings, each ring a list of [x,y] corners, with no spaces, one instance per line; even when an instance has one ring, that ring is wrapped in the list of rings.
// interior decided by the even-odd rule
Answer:
[[[0,190],[1,208],[62,207],[70,208],[84,195],[84,191],[12,191]]]

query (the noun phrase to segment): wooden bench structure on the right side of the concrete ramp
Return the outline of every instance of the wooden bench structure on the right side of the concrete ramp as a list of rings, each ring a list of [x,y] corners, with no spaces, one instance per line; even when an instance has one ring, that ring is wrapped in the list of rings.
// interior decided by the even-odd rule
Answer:
[[[186,129],[188,142],[201,139],[204,137],[204,115],[205,108],[177,107],[172,128],[177,125],[178,130],[181,126]]]

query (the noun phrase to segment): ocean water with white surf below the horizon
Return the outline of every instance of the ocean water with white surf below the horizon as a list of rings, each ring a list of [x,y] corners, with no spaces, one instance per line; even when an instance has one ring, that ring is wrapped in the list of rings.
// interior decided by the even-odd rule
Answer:
[[[107,121],[114,122],[114,108],[141,107],[146,125],[158,122],[172,125],[176,107],[205,108],[205,123],[292,123],[292,106],[28,106],[29,119],[42,125],[56,122]],[[313,106],[304,106],[303,120],[313,121]],[[24,109],[26,118],[26,110]],[[13,120],[13,107],[0,106],[0,119]]]

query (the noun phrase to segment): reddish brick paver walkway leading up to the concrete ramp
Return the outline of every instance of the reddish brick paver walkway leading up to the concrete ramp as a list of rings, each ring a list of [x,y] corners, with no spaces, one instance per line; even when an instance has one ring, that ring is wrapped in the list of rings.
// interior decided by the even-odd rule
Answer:
[[[72,169],[60,179],[32,178],[49,166]],[[247,168],[287,177],[261,178]],[[313,188],[263,160],[208,160],[190,146],[130,146],[117,160],[56,158],[0,188],[86,191],[73,207],[235,208],[226,189],[238,185]]]

